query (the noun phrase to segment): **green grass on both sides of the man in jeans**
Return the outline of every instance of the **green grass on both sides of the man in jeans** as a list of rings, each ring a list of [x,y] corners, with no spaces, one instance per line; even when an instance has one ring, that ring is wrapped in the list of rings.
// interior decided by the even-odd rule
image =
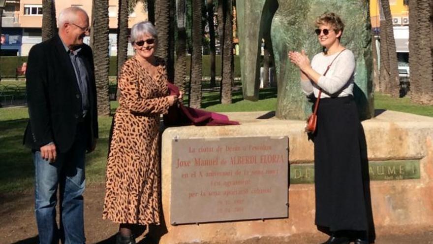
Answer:
[[[23,145],[28,117],[26,107],[0,108],[0,194],[32,188],[31,151]],[[104,180],[110,126],[111,117],[99,117],[98,146],[87,155],[88,182]]]

